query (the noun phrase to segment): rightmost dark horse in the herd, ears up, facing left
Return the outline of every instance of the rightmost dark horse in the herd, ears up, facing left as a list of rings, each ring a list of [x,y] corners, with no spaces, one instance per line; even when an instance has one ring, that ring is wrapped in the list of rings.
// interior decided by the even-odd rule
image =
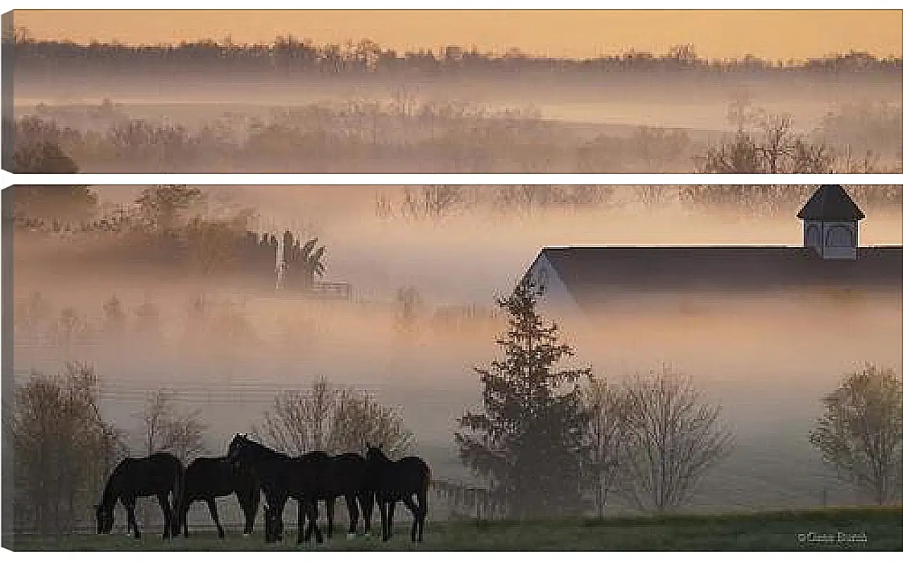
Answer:
[[[379,505],[379,516],[383,523],[383,541],[392,537],[392,519],[395,517],[396,502],[405,503],[414,514],[411,527],[411,541],[424,541],[427,495],[430,489],[430,466],[420,457],[402,457],[392,461],[380,446],[367,447],[367,463],[371,486]],[[417,503],[414,503],[414,494]]]

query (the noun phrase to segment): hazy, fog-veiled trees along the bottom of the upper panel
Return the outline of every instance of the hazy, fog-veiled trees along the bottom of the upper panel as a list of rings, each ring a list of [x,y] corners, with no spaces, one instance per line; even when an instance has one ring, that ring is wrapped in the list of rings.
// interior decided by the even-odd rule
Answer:
[[[793,115],[768,113],[739,95],[727,114],[735,134],[708,142],[647,125],[583,138],[535,107],[490,110],[418,99],[404,88],[388,101],[221,115],[197,130],[135,119],[109,100],[88,115],[87,125],[77,125],[73,119],[86,115],[39,105],[18,117],[9,124],[15,150],[5,166],[19,173],[357,171],[359,162],[381,161],[396,170],[428,163],[431,171],[461,172],[871,173],[903,166],[900,109],[887,103],[841,106],[804,134]]]

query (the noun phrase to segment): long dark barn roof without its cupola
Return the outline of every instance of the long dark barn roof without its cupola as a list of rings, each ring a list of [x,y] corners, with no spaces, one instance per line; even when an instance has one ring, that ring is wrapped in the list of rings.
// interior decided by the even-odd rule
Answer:
[[[857,260],[824,260],[814,249],[788,246],[565,246],[541,255],[581,307],[634,291],[903,287],[903,247],[857,252]]]

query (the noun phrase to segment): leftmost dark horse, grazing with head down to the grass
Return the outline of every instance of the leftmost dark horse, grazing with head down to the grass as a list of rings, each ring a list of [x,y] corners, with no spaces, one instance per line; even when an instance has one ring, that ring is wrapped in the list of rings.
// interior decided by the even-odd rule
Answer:
[[[148,457],[126,457],[110,474],[107,486],[100,497],[97,509],[98,534],[113,529],[113,509],[116,501],[122,503],[128,513],[129,530],[135,538],[141,537],[135,521],[135,502],[143,496],[156,494],[163,510],[163,539],[179,535],[179,519],[173,507],[182,494],[185,469],[178,457],[158,453]],[[172,504],[170,504],[172,494]]]

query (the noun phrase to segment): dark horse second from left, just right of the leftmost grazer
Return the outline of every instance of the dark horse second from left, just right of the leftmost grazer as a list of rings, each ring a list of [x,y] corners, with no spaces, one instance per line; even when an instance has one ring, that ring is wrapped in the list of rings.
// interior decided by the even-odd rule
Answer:
[[[256,476],[241,467],[229,463],[226,457],[198,457],[185,468],[185,486],[179,503],[182,534],[188,537],[188,509],[195,501],[206,501],[210,517],[217,525],[219,537],[225,537],[219,523],[216,498],[235,493],[242,512],[245,513],[246,535],[254,531],[254,519],[260,505],[260,484]]]

